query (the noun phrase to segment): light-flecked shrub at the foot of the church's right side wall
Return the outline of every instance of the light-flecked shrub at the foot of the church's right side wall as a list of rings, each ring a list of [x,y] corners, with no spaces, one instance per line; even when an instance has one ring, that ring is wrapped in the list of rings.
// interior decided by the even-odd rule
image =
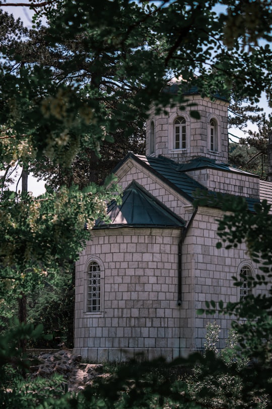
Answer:
[[[249,405],[259,409],[266,407],[267,396],[255,399],[254,389],[251,390],[251,400],[243,401],[242,371],[249,361],[239,355],[237,334],[230,330],[226,347],[218,351],[216,342],[219,339],[219,325],[216,322],[208,323],[206,328],[204,355],[214,366],[211,370],[206,363],[196,364],[192,374],[185,378],[191,398],[210,408],[236,409]]]

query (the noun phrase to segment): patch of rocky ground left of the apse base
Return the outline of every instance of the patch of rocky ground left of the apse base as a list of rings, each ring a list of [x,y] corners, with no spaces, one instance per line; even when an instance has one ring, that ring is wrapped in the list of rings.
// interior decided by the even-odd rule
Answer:
[[[68,391],[78,392],[89,385],[97,376],[102,376],[103,365],[82,364],[81,356],[73,355],[70,350],[62,349],[55,352],[40,352],[30,356],[32,365],[29,378],[49,377],[53,374],[63,376]]]

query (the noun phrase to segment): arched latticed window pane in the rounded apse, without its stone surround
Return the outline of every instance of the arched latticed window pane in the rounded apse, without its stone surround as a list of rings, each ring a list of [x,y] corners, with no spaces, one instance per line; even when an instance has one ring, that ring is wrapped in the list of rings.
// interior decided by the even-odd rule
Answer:
[[[101,311],[101,269],[96,261],[89,264],[87,272],[87,313]]]

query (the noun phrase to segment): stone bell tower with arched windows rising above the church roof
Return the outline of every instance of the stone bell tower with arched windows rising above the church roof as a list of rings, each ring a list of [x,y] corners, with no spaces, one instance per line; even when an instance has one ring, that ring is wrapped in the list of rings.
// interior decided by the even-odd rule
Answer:
[[[169,85],[169,92],[177,92],[178,85]],[[171,89],[172,88],[172,89]],[[229,102],[215,96],[202,98],[197,89],[184,94],[185,109],[166,108],[167,114],[155,114],[151,107],[146,130],[146,155],[163,155],[178,163],[197,157],[228,162],[228,106]],[[191,104],[200,119],[190,116]]]

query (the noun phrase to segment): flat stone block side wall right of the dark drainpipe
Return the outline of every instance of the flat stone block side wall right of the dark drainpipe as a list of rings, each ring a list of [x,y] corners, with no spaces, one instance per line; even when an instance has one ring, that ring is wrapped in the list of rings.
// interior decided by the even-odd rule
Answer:
[[[242,265],[249,266],[254,275],[260,273],[250,260],[244,243],[235,249],[216,248],[219,241],[217,220],[222,216],[220,210],[198,208],[182,248],[182,308],[186,308],[189,326],[194,329],[192,347],[196,349],[203,348],[206,324],[214,321],[221,327],[219,347],[224,347],[232,319],[218,314],[198,316],[196,310],[206,309],[206,300],[236,302],[240,289],[233,285],[232,276],[239,278]],[[267,294],[265,286],[253,291]]]

